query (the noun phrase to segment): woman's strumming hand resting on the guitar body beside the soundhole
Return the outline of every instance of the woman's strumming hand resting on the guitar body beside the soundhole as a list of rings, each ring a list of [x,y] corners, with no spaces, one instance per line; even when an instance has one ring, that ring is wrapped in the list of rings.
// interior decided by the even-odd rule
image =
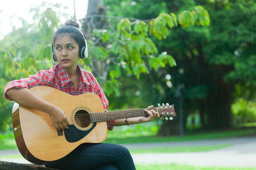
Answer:
[[[57,106],[53,105],[49,115],[57,130],[68,129],[68,118],[65,112],[61,110],[61,108],[58,108]]]

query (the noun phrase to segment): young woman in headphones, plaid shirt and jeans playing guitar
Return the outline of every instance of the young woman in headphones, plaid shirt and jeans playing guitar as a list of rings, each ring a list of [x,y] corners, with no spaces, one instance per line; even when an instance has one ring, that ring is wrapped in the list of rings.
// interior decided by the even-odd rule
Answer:
[[[52,57],[58,62],[49,70],[42,70],[29,78],[10,81],[4,90],[6,99],[13,100],[22,106],[35,108],[48,113],[56,129],[67,129],[70,123],[65,112],[51,103],[36,97],[28,89],[38,85],[54,87],[71,95],[87,92],[97,94],[102,101],[104,110],[108,110],[108,99],[92,73],[81,69],[77,65],[79,58],[88,55],[85,34],[79,29],[79,24],[68,20],[65,26],[58,29],[52,36]],[[115,125],[138,124],[149,122],[159,117],[150,110],[148,117],[136,117],[107,122],[108,129]],[[89,144],[78,146],[73,152],[60,160],[45,164],[57,169],[135,169],[129,151],[120,145],[109,143]]]

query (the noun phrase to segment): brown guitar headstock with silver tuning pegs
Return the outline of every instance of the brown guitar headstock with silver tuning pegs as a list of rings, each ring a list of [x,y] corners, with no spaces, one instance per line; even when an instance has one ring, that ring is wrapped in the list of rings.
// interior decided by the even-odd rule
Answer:
[[[176,117],[173,104],[163,103],[162,106],[161,104],[158,104],[157,111],[162,120],[173,120],[173,117]]]

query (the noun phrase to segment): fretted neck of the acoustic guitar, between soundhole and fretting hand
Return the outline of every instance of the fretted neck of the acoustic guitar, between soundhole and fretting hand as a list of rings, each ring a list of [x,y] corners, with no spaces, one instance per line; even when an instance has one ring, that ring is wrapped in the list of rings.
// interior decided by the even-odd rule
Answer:
[[[152,110],[157,111],[157,108],[152,108]],[[132,118],[132,117],[148,117],[148,113],[144,111],[144,109],[97,112],[97,113],[90,114],[90,121],[105,122],[110,120],[118,120],[122,118]]]

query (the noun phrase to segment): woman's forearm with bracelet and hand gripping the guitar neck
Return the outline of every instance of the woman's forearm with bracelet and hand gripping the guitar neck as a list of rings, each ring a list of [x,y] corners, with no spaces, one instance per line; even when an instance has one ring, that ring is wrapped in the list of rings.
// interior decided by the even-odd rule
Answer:
[[[148,117],[133,117],[133,118],[127,118],[127,119],[119,119],[115,120],[114,124],[115,126],[118,125],[131,125],[131,124],[140,124],[143,122],[150,122],[154,120],[156,117],[160,117],[159,113],[155,110],[150,110],[154,108],[154,106],[148,106],[145,111],[148,113]]]

